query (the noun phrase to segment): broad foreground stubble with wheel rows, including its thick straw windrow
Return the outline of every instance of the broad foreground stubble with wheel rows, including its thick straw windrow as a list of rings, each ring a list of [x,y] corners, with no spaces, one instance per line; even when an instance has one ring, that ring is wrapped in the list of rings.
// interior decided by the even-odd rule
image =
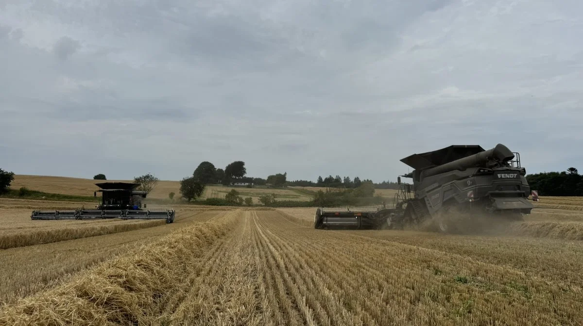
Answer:
[[[583,324],[583,242],[321,231],[283,214],[180,228],[3,307],[0,325]]]

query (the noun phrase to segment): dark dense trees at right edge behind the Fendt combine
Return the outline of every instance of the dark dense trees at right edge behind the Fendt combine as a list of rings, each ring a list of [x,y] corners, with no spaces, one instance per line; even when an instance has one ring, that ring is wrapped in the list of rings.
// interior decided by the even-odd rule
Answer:
[[[576,168],[526,175],[526,180],[539,196],[583,196],[583,176]]]

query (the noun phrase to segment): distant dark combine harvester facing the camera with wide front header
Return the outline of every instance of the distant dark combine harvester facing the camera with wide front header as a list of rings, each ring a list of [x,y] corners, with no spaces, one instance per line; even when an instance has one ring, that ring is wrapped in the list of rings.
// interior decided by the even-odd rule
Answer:
[[[94,210],[38,210],[33,211],[32,219],[166,219],[174,222],[174,210],[142,209],[142,198],[146,192],[134,190],[139,183],[104,182],[96,183],[100,187],[101,204]],[[94,192],[93,196],[97,196]]]

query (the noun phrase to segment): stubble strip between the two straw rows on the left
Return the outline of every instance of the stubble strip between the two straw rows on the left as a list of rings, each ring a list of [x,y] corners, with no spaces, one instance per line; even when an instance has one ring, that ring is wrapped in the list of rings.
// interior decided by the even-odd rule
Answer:
[[[0,303],[12,302],[15,297],[38,292],[93,264],[117,254],[125,254],[138,245],[224,214],[226,211],[185,210],[177,212],[173,224],[0,250]]]

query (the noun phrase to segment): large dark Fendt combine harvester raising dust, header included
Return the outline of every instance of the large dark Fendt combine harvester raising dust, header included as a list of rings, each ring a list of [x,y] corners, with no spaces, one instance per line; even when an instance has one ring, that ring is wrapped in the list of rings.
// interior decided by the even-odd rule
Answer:
[[[414,170],[401,183],[390,207],[318,208],[314,217],[317,229],[403,228],[430,222],[440,232],[452,232],[455,219],[521,219],[534,207],[526,170],[520,155],[503,144],[490,150],[477,145],[453,145],[440,150],[413,154],[401,162]],[[538,200],[533,192],[533,200]]]

